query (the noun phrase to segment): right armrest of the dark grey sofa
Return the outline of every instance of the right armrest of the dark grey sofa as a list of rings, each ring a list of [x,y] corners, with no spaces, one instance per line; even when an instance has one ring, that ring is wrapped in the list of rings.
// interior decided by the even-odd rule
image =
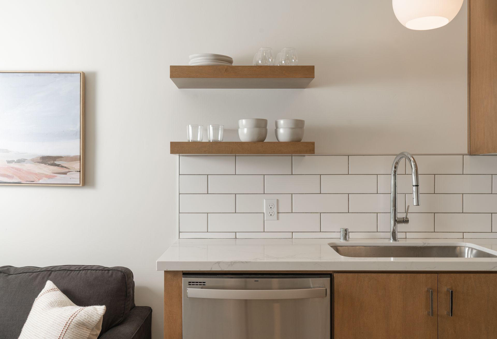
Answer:
[[[151,339],[152,309],[148,306],[136,306],[118,325],[103,333],[99,339]]]

